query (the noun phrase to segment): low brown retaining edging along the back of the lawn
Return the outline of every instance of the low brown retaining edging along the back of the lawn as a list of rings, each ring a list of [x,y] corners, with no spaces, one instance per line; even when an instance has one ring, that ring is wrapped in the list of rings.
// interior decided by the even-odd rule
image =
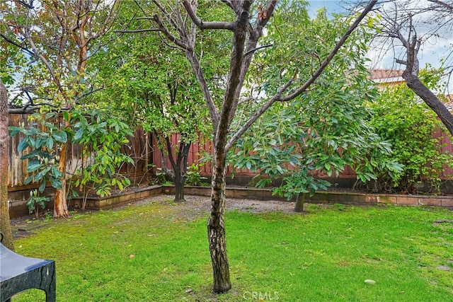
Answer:
[[[25,191],[24,191],[25,192]],[[124,204],[144,199],[159,194],[174,194],[173,186],[154,185],[143,187],[137,190],[115,194],[109,197],[88,197],[86,200],[86,209],[104,210],[120,207]],[[29,191],[27,191],[29,193]],[[188,195],[210,196],[210,187],[185,187],[184,193]],[[270,190],[255,189],[255,188],[226,188],[226,198],[242,198],[242,199],[257,199],[257,200],[280,200],[286,202],[284,197],[273,196]],[[9,196],[9,212],[11,218],[28,215],[26,207],[25,195],[20,199],[15,199]],[[294,200],[293,200],[294,201]],[[402,194],[367,194],[355,192],[316,192],[314,196],[306,196],[306,202],[309,203],[336,203],[336,204],[398,204],[410,206],[430,206],[443,207],[453,209],[453,196],[433,196],[433,195],[402,195]],[[50,208],[53,200],[48,203]],[[81,207],[82,198],[74,198],[69,201],[71,206],[77,205]]]

